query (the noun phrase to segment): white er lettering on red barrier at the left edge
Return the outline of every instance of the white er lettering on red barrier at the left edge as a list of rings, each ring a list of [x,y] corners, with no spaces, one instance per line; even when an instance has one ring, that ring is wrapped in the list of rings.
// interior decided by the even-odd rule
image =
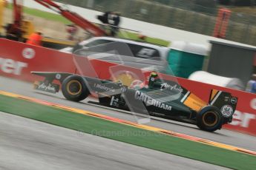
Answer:
[[[0,58],[0,71],[2,72],[21,75],[24,67],[27,67],[27,63],[14,61],[9,58]]]

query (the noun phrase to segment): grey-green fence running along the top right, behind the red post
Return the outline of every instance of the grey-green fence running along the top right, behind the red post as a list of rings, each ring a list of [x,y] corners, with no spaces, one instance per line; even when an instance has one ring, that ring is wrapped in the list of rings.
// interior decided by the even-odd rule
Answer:
[[[92,10],[119,11],[122,16],[187,30],[203,35],[212,35],[218,7],[206,7],[188,0],[62,0],[65,4],[86,7]],[[232,13],[226,31],[226,39],[256,45],[256,16]]]

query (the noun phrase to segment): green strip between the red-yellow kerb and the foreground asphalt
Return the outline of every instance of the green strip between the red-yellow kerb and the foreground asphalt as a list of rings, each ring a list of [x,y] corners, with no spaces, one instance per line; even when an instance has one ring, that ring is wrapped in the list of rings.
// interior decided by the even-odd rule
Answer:
[[[19,98],[0,95],[0,111],[231,169],[252,170],[256,167],[256,157],[249,154],[137,129]]]

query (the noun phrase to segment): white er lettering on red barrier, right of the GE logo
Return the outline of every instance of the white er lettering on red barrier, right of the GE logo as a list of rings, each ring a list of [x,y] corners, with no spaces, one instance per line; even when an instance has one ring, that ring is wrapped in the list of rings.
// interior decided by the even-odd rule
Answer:
[[[256,119],[256,115],[250,113],[243,113],[236,110],[233,115],[232,123],[230,124],[233,126],[248,128],[250,120],[252,119]]]

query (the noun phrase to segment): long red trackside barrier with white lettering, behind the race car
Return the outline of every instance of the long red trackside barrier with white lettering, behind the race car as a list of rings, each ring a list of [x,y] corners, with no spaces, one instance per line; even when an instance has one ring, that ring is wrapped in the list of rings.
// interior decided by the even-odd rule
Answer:
[[[111,78],[110,67],[116,64],[105,61],[91,60],[96,74],[99,78]],[[138,69],[131,67],[118,66],[119,73],[122,71],[140,72]],[[117,68],[117,67],[114,67]],[[36,75],[30,74],[31,71],[40,72],[76,72],[76,67],[73,64],[73,56],[50,50],[43,47],[30,46],[28,44],[9,41],[0,38],[0,75],[15,78],[22,81],[38,80]],[[113,70],[111,70],[113,71]],[[147,77],[149,72],[145,71],[142,74]],[[165,79],[170,79],[168,75],[161,75]],[[203,84],[197,81],[190,81],[184,78],[177,78],[179,83],[186,89],[190,90],[203,101],[209,101],[211,89],[223,90],[231,92],[232,95],[238,97],[237,110],[234,113],[234,120],[231,124],[225,125],[224,128],[237,132],[256,135],[256,95],[248,92],[227,89],[220,86]],[[1,89],[1,82],[0,82]]]

